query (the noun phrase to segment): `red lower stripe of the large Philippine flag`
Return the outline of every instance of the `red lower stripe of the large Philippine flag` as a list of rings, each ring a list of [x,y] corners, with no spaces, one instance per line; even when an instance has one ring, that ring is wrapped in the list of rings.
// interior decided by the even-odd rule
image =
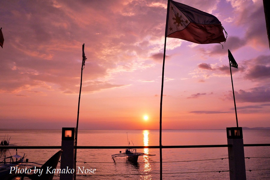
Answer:
[[[167,37],[179,38],[198,44],[220,43],[226,41],[223,34],[223,28],[220,24],[202,25],[193,22],[185,29],[174,32]]]

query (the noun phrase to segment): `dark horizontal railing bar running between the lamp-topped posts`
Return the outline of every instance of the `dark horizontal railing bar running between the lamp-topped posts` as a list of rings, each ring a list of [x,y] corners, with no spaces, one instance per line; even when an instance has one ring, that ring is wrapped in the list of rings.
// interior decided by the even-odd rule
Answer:
[[[244,144],[246,147],[250,146],[270,146],[270,144]],[[187,146],[162,146],[162,149],[169,148],[219,148],[231,147],[231,145],[187,145]],[[159,146],[77,146],[77,149],[159,149]],[[0,146],[0,149],[61,149],[61,146]]]

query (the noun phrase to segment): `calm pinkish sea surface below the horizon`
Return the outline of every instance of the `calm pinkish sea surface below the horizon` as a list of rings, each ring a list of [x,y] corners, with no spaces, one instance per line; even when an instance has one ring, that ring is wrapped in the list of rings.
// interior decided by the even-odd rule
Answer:
[[[159,146],[159,130],[93,131],[79,130],[78,146]],[[0,139],[11,137],[10,144],[17,146],[61,146],[61,130],[0,130]],[[243,130],[244,144],[270,143],[270,130]],[[164,130],[162,145],[223,145],[227,144],[226,130]],[[18,149],[30,162],[44,164],[58,149]],[[112,159],[111,155],[124,149],[78,149],[78,167],[96,169],[85,179],[160,179],[159,149],[137,149],[137,152],[155,154],[140,156],[138,164],[125,158]],[[1,151],[3,155],[16,154],[14,149]],[[270,147],[244,147],[247,179],[270,179]],[[1,159],[3,158],[3,155]],[[163,149],[163,179],[229,179],[227,148]],[[212,160],[216,159],[216,160]],[[197,161],[205,160],[205,161]],[[59,164],[58,164],[59,165]],[[58,167],[60,168],[60,166]],[[78,171],[78,170],[77,170]],[[212,172],[213,171],[213,172]],[[121,175],[122,174],[122,175]],[[123,175],[124,174],[124,175]],[[119,176],[116,176],[119,175]],[[54,177],[59,179],[58,176]]]

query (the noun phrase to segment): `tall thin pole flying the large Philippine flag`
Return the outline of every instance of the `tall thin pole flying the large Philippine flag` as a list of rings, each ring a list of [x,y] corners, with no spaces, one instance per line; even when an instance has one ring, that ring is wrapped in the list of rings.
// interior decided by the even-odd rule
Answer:
[[[160,154],[160,180],[162,180],[162,98],[163,98],[163,84],[164,84],[164,66],[165,66],[165,52],[166,52],[166,39],[167,39],[167,27],[169,18],[170,0],[167,5],[167,17],[166,17],[166,29],[165,29],[165,41],[164,41],[164,54],[162,65],[162,80],[161,80],[161,96],[160,96],[160,116],[159,116],[159,154]]]

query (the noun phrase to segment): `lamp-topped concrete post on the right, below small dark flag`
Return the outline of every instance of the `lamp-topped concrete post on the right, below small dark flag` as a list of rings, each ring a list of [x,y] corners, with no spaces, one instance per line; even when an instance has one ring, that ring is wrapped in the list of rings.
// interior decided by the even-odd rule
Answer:
[[[246,180],[243,132],[241,127],[226,128],[230,180]]]

